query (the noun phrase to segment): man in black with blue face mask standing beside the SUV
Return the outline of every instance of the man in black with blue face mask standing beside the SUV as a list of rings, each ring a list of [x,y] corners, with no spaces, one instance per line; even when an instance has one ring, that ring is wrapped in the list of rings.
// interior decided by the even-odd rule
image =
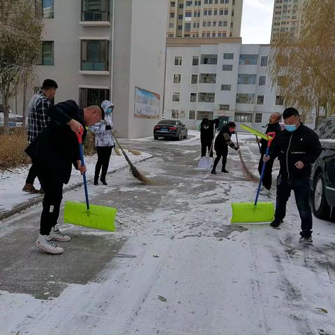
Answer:
[[[309,204],[311,166],[321,153],[318,135],[299,120],[299,112],[287,108],[283,112],[285,130],[278,133],[272,144],[269,156],[264,161],[278,157],[281,169],[277,178],[276,212],[273,228],[283,222],[286,203],[291,191],[301,218],[300,242],[312,244],[312,212]]]

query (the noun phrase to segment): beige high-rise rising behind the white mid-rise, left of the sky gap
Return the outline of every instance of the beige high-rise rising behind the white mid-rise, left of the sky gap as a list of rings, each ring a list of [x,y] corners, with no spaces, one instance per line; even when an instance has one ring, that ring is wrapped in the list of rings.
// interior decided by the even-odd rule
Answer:
[[[241,36],[243,0],[168,0],[167,38]]]

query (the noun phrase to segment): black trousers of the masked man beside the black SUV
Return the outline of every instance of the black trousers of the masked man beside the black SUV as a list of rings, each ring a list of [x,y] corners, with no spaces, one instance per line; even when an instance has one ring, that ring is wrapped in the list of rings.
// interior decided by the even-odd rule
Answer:
[[[303,237],[311,237],[313,227],[312,211],[309,203],[309,195],[311,192],[309,184],[309,177],[292,179],[290,182],[287,177],[281,177],[281,175],[277,178],[276,212],[274,217],[276,220],[283,220],[283,218],[285,218],[286,203],[290,198],[291,191],[294,191],[295,201],[297,202],[297,208],[301,218],[300,235]]]

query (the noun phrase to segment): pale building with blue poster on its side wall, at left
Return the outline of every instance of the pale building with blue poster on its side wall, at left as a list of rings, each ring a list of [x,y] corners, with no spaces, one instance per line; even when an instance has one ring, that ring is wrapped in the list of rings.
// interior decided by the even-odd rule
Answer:
[[[57,81],[55,103],[110,99],[119,136],[151,135],[163,110],[167,11],[165,0],[43,0],[39,84]]]

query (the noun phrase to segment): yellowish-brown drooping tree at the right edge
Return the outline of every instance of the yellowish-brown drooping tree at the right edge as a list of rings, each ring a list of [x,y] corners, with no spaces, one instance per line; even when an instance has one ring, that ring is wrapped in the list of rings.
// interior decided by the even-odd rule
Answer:
[[[334,19],[334,0],[305,0],[299,38],[281,32],[271,45],[272,87],[285,98],[285,105],[299,107],[304,117],[315,110],[315,122],[320,110],[335,111]]]

